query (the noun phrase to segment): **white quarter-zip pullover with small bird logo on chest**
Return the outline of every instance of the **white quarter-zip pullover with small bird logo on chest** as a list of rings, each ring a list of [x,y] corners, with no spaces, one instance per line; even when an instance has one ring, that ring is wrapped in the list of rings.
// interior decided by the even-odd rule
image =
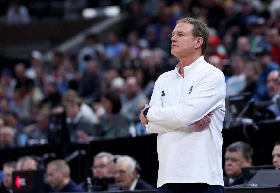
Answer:
[[[180,63],[155,82],[146,129],[157,133],[157,187],[166,183],[207,183],[224,186],[221,130],[225,116],[225,77],[199,57]],[[204,130],[192,123],[212,112]]]

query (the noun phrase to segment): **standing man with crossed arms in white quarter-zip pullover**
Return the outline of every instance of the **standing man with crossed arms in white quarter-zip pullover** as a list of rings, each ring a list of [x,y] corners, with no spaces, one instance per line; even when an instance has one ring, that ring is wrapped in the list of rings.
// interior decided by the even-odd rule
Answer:
[[[200,20],[177,21],[172,32],[171,54],[180,63],[175,70],[160,75],[150,105],[140,114],[147,131],[158,133],[160,193],[167,189],[168,192],[224,192],[221,130],[225,77],[204,61],[208,36],[209,29]],[[210,125],[204,123],[201,129],[192,125],[210,112],[213,113]]]

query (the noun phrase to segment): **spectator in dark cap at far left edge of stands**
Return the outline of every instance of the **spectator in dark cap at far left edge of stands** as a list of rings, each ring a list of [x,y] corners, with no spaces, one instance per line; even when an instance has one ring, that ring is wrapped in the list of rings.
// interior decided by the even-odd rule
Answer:
[[[13,78],[13,71],[10,68],[2,68],[0,84],[5,87],[8,97],[12,98],[17,81]]]

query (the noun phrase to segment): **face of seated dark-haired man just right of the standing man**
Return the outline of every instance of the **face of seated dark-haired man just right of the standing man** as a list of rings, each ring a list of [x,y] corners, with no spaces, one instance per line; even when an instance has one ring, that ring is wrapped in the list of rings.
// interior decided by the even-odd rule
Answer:
[[[237,178],[241,174],[241,167],[249,166],[251,166],[251,162],[242,156],[241,151],[225,153],[225,173],[230,178]]]

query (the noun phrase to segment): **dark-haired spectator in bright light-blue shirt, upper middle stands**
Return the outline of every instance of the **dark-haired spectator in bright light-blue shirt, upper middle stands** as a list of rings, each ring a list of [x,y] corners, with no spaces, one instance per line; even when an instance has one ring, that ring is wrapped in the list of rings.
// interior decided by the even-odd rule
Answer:
[[[105,47],[105,54],[109,59],[116,59],[125,44],[119,41],[117,33],[113,31],[108,33],[107,40],[108,44]]]

